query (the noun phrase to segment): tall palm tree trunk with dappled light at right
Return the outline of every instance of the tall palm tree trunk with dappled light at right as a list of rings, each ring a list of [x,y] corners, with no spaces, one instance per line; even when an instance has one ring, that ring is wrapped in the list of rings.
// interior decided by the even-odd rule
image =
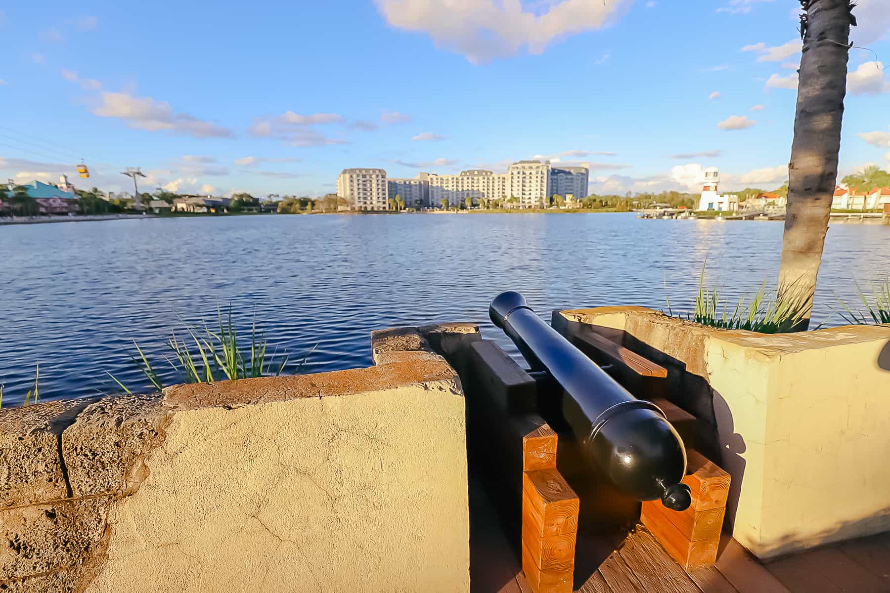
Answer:
[[[816,275],[837,183],[852,9],[847,0],[809,0],[802,4],[804,48],[798,70],[788,215],[779,268],[780,296],[807,300],[806,318],[794,328],[796,331],[806,331],[810,325]]]

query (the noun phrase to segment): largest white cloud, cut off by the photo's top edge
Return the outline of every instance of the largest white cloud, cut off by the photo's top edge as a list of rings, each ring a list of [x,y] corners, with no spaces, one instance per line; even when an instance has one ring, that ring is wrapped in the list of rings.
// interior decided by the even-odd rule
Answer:
[[[548,0],[536,13],[519,0],[376,0],[395,28],[428,33],[433,43],[473,64],[505,58],[523,46],[532,54],[564,36],[611,25],[633,0]]]

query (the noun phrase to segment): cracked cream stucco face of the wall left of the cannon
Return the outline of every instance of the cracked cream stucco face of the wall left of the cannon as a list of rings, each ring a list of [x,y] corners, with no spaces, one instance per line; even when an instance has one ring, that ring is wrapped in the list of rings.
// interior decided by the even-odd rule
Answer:
[[[180,411],[87,589],[468,591],[454,381]]]

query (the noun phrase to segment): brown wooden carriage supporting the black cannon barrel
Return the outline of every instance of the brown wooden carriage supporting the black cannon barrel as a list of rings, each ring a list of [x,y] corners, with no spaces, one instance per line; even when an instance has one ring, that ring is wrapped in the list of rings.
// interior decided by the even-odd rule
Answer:
[[[640,524],[674,558],[676,570],[701,573],[716,560],[730,477],[694,448],[696,419],[671,403],[667,370],[623,347],[605,328],[554,313],[554,329],[627,391],[665,413],[686,445],[683,483],[692,502],[677,512],[661,501],[641,504],[617,492],[584,462],[570,431],[542,417],[546,398],[552,400],[559,386],[523,369],[494,341],[456,343],[449,359],[465,389],[471,478],[494,501],[530,589],[570,592],[587,582],[587,590],[596,590],[603,571],[621,569],[610,565],[609,555]]]

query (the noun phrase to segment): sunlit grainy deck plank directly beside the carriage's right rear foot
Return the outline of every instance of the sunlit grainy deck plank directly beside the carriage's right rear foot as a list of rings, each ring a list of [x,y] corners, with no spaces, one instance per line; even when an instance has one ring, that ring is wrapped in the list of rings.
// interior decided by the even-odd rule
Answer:
[[[638,526],[627,535],[619,555],[634,571],[644,591],[672,591],[672,593],[700,593],[680,565],[677,565],[651,533]]]

